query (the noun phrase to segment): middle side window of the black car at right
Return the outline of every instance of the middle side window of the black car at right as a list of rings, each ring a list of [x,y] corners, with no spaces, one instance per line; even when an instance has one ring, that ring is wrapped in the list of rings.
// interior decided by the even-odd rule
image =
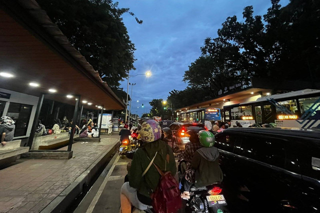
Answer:
[[[240,155],[284,168],[284,141],[256,136],[241,137]]]

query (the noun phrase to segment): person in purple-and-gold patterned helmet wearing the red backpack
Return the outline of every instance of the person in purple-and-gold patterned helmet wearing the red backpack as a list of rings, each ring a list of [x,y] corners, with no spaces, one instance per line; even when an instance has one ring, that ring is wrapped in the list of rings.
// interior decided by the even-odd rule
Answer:
[[[150,193],[155,191],[160,180],[160,175],[153,165],[142,177],[150,159],[154,158],[153,163],[161,171],[170,171],[173,176],[176,172],[172,149],[160,140],[159,124],[152,119],[144,119],[139,128],[139,135],[145,143],[143,148],[137,149],[133,155],[128,173],[129,182],[121,187],[120,212],[122,213],[131,213],[131,205],[139,210],[147,210],[150,207],[152,203]]]

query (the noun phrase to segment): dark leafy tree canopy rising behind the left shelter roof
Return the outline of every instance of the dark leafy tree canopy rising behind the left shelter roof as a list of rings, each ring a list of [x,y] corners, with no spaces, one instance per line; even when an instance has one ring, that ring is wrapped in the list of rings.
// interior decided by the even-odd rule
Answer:
[[[129,70],[135,69],[134,44],[121,18],[126,12],[134,16],[129,8],[118,8],[118,3],[112,0],[37,2],[113,90]]]

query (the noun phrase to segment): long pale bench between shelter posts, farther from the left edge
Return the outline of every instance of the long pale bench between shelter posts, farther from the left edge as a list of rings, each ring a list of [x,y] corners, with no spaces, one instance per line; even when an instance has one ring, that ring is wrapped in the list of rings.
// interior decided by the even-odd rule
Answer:
[[[34,137],[31,150],[53,150],[69,142],[69,133],[63,132],[59,134],[45,135]],[[77,138],[79,135],[74,135]]]

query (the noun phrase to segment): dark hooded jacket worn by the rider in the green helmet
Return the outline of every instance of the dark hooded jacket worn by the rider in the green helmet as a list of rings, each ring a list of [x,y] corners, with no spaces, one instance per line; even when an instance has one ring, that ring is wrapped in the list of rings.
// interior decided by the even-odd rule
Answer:
[[[219,151],[215,147],[202,147],[194,153],[191,168],[195,170],[195,187],[205,187],[223,179],[219,167]]]

